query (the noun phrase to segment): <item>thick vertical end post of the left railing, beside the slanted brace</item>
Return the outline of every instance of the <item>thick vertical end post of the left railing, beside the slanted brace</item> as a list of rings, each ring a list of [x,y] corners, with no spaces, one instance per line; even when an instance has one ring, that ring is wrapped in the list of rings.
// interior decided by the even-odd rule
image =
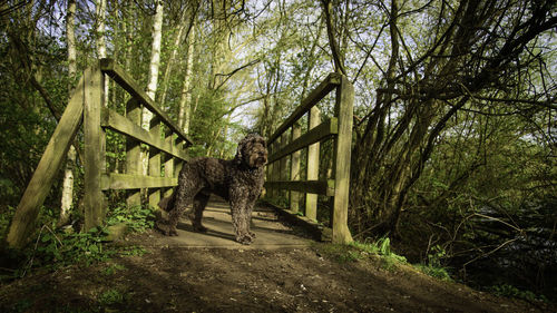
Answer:
[[[100,188],[100,176],[106,173],[105,130],[100,127],[100,110],[104,107],[105,76],[99,67],[85,72],[84,99],[84,204],[85,229],[102,225],[105,199]]]

